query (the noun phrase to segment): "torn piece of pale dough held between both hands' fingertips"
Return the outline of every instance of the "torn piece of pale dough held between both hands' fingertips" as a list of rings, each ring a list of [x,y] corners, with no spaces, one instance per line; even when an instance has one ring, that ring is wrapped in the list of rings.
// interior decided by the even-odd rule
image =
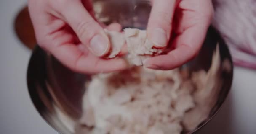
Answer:
[[[142,66],[144,59],[163,52],[162,49],[155,48],[152,41],[149,41],[146,30],[125,28],[124,33],[105,31],[111,43],[110,53],[107,56],[109,59],[115,58],[120,53],[124,44],[127,44],[128,54],[126,59],[128,63],[136,66]]]

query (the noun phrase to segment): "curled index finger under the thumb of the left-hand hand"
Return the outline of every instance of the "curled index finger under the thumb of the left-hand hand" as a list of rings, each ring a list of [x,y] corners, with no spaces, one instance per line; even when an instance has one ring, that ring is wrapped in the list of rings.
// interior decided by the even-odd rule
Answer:
[[[83,46],[83,45],[80,45]],[[83,49],[83,52],[81,51]],[[50,49],[50,52],[59,59],[61,63],[71,70],[80,73],[94,74],[99,72],[113,72],[126,68],[123,59],[104,60],[94,56],[86,50],[86,47],[79,48],[74,44],[63,44]]]

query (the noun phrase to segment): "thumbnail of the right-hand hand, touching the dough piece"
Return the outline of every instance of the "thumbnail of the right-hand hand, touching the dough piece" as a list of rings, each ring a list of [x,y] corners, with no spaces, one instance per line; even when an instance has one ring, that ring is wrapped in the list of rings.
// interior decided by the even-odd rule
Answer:
[[[155,28],[152,32],[151,39],[155,46],[165,47],[168,42],[165,31],[162,28]]]

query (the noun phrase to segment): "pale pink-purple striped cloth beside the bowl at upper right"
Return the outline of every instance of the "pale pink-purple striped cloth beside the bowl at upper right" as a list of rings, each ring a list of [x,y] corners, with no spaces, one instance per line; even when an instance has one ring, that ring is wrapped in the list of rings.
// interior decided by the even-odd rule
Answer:
[[[256,69],[256,0],[213,0],[215,26],[235,65]]]

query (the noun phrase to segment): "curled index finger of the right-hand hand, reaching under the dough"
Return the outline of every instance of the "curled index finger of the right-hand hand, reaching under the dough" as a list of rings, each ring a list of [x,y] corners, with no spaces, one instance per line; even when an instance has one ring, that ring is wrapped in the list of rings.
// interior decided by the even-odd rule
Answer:
[[[145,60],[145,66],[170,70],[188,62],[199,52],[213,15],[211,0],[182,0],[179,8],[181,11],[176,14],[179,23],[175,26],[178,36],[172,43],[174,50]],[[182,14],[184,11],[186,13]]]

